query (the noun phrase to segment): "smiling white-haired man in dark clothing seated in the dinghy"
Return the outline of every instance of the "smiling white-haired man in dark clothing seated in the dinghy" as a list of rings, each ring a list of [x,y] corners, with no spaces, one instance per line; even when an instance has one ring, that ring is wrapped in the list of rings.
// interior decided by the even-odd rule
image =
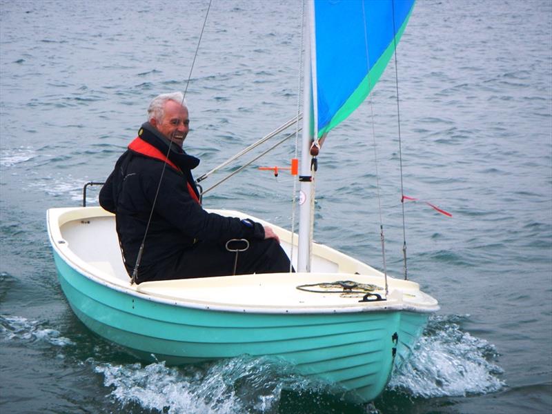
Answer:
[[[242,238],[249,248],[239,253],[237,274],[288,272],[289,259],[272,228],[201,208],[191,172],[199,159],[182,149],[189,130],[181,92],[153,99],[148,122],[101,189],[101,206],[115,213],[128,274],[135,269],[144,235],[137,283],[231,275],[235,253],[225,245]]]

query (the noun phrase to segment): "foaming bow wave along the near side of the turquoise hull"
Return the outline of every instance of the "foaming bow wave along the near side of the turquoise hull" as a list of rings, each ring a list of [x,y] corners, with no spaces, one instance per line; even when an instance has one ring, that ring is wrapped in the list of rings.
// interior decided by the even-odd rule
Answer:
[[[293,373],[293,366],[269,357],[237,357],[204,366],[169,368],[164,362],[95,364],[111,396],[164,413],[271,413],[282,389],[319,391],[329,385]]]

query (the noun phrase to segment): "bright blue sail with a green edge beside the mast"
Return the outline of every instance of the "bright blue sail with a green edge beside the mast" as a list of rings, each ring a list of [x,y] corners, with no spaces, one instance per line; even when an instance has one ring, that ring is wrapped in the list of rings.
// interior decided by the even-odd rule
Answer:
[[[318,137],[366,99],[413,6],[414,0],[315,0],[311,61]]]

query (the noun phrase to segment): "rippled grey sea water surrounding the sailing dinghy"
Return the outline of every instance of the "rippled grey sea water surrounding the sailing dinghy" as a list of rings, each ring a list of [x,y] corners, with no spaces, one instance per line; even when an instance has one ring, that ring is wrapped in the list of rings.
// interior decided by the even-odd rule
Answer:
[[[90,333],[59,288],[46,209],[78,206],[148,101],[186,88],[207,5],[0,1],[2,413],[364,413],[269,359],[141,364]],[[187,92],[197,175],[297,112],[301,12],[299,1],[213,1]],[[401,275],[394,65],[322,148],[315,238],[381,268],[381,203],[388,270]],[[404,194],[453,217],[405,205],[409,277],[442,308],[375,408],[549,413],[552,3],[418,1],[397,73]],[[206,206],[290,228],[292,179],[257,167],[287,164],[293,141]]]

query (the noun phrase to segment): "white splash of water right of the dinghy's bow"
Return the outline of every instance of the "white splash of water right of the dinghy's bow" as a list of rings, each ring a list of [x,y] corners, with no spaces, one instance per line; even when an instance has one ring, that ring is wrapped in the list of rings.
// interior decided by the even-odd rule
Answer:
[[[436,316],[429,321],[413,355],[396,373],[389,388],[415,397],[458,397],[492,393],[505,386],[493,363],[493,344],[462,332],[462,317]]]

